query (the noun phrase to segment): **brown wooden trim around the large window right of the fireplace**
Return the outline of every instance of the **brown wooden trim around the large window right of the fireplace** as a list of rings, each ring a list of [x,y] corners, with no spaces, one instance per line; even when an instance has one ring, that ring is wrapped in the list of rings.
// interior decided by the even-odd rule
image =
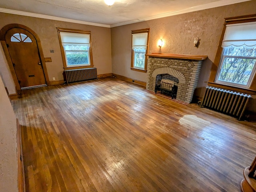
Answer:
[[[208,86],[215,86],[218,88],[224,88],[224,89],[234,90],[237,92],[244,92],[244,93],[248,93],[248,94],[256,94],[256,74],[252,78],[252,83],[251,83],[250,87],[248,87],[248,88],[242,88],[242,87],[226,85],[226,84],[222,84],[220,82],[216,82],[217,75],[218,75],[218,68],[221,65],[222,51],[223,51],[223,48],[221,47],[221,45],[222,45],[222,41],[223,41],[224,34],[226,31],[226,25],[227,24],[239,24],[239,23],[245,23],[245,22],[255,22],[255,21],[256,21],[256,14],[225,18],[224,27],[223,27],[222,34],[220,36],[219,45],[218,45],[218,50],[217,50],[217,53],[216,53],[216,56],[214,59],[214,63],[212,64],[211,73],[210,73],[210,77],[209,77],[209,81],[208,81]]]

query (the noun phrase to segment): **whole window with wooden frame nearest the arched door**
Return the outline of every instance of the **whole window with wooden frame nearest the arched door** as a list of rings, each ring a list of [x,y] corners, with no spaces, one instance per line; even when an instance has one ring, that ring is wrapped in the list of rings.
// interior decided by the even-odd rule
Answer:
[[[92,66],[90,32],[58,29],[64,68]]]

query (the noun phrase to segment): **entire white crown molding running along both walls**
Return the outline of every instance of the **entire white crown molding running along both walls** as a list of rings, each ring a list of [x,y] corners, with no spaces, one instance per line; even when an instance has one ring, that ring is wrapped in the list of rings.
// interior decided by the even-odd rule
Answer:
[[[86,21],[80,21],[80,20],[73,20],[73,19],[48,16],[48,15],[36,14],[36,13],[29,13],[29,12],[23,12],[23,11],[17,11],[17,10],[10,10],[10,9],[4,9],[4,8],[0,8],[0,12],[112,28],[112,27],[128,25],[128,24],[133,24],[133,23],[138,23],[138,22],[148,21],[148,20],[153,20],[153,19],[158,19],[158,18],[164,18],[164,17],[174,16],[174,15],[179,15],[179,14],[184,14],[184,13],[189,13],[189,12],[194,12],[194,11],[200,11],[200,10],[205,10],[205,9],[210,9],[210,8],[215,8],[215,7],[220,7],[220,6],[226,6],[226,5],[236,4],[236,3],[246,2],[246,1],[251,1],[251,0],[220,0],[218,2],[212,2],[212,3],[208,3],[208,4],[204,4],[204,5],[194,6],[194,7],[181,9],[181,10],[177,10],[177,11],[173,11],[173,12],[168,12],[168,13],[164,13],[164,14],[159,14],[159,15],[155,15],[155,16],[150,16],[150,17],[146,17],[146,18],[134,19],[134,20],[126,21],[126,22],[120,22],[120,23],[116,23],[116,24],[112,24],[112,25],[86,22]]]

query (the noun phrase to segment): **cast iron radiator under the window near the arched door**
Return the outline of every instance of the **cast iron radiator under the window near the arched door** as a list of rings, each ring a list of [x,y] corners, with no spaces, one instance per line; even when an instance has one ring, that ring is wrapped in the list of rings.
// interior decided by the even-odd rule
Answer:
[[[94,67],[94,68],[64,70],[63,76],[64,76],[64,82],[66,84],[97,79],[97,69]]]

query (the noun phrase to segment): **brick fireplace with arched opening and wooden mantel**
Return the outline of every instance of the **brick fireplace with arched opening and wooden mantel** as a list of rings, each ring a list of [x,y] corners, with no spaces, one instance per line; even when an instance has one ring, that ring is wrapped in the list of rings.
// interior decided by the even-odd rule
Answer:
[[[178,86],[176,99],[192,102],[197,86],[202,61],[206,55],[147,54],[148,70],[146,89],[155,90],[162,78],[170,79]]]

